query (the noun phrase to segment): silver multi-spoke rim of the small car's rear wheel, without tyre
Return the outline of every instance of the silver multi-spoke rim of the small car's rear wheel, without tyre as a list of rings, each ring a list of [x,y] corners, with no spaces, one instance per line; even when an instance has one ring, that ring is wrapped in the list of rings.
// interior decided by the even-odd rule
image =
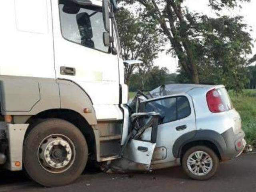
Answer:
[[[204,151],[196,151],[190,154],[187,167],[195,175],[204,176],[212,170],[213,161],[210,155]]]

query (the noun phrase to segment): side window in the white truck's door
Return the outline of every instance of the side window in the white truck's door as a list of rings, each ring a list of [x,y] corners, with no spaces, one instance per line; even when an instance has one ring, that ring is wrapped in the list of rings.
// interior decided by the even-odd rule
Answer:
[[[84,7],[72,4],[70,1],[60,0],[59,9],[62,36],[66,40],[109,52],[109,47],[104,46],[103,43],[105,28],[100,7]]]

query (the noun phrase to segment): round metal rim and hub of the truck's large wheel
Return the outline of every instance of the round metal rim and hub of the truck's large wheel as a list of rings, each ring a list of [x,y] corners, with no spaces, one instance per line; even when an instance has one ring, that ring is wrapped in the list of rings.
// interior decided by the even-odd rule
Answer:
[[[38,160],[48,172],[60,173],[73,164],[75,152],[74,144],[68,137],[53,134],[42,140],[38,148]]]

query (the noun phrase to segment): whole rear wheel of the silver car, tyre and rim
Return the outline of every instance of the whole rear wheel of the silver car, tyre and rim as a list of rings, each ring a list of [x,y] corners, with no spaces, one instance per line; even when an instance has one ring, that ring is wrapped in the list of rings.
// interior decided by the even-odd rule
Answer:
[[[182,157],[184,172],[195,180],[208,180],[214,176],[218,165],[218,156],[206,146],[189,148]]]

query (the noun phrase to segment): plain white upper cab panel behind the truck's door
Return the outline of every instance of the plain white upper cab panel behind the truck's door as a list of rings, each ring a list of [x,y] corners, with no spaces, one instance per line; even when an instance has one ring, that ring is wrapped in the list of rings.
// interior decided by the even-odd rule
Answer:
[[[0,75],[55,78],[50,1],[9,0],[3,7]]]

